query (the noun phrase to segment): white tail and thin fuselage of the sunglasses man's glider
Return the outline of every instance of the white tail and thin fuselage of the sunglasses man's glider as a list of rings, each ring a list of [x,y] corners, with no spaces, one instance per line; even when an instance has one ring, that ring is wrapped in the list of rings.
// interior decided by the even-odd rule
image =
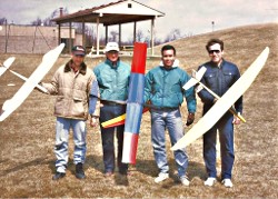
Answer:
[[[202,78],[202,76],[206,73],[207,69],[205,67],[201,67],[199,71],[195,71],[192,72],[192,78],[182,87],[185,90],[188,90],[189,88],[191,88],[192,86],[199,83],[201,86],[201,89],[206,89],[210,94],[212,94],[217,100],[220,99],[219,96],[217,96],[212,90],[210,90],[208,87],[206,87],[200,80]],[[238,119],[240,119],[242,122],[246,122],[246,119],[236,111],[236,109],[231,106],[229,108],[229,111],[236,116]]]

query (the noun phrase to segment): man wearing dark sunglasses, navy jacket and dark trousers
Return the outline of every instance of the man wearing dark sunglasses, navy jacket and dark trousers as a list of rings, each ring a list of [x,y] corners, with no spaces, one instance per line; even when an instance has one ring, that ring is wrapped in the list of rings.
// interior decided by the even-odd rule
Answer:
[[[207,71],[203,74],[201,82],[211,89],[218,96],[224,93],[240,78],[238,67],[229,61],[226,61],[224,56],[224,42],[219,39],[208,41],[206,49],[210,57],[210,61],[199,67],[206,67]],[[201,89],[198,96],[203,102],[203,112],[214,106],[216,99],[206,89]],[[240,97],[235,108],[237,112],[242,113],[242,97]],[[225,187],[232,187],[231,171],[235,161],[234,152],[234,125],[239,125],[240,120],[227,111],[222,118],[203,135],[203,159],[208,178],[205,186],[214,186],[217,179],[216,170],[216,138],[217,130],[219,131],[220,153],[221,153],[221,182]]]

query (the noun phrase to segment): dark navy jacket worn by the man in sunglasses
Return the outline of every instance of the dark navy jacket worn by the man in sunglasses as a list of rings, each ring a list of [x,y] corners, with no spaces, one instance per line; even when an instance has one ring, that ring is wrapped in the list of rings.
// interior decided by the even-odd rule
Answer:
[[[206,67],[207,71],[203,74],[201,82],[212,90],[219,97],[224,93],[240,78],[238,67],[231,62],[222,60],[220,67],[217,67],[214,62],[209,61],[200,66]],[[210,94],[206,89],[198,92],[201,101],[203,102],[203,115],[214,106],[215,97]],[[240,97],[235,108],[237,112],[242,113],[242,97]]]

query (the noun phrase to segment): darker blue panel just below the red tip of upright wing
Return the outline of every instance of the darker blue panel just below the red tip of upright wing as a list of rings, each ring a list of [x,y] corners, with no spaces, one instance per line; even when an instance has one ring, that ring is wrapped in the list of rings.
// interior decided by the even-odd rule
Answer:
[[[133,92],[129,91],[128,102],[143,103],[143,87],[145,87],[145,74],[142,73],[131,73],[129,89],[132,89]]]

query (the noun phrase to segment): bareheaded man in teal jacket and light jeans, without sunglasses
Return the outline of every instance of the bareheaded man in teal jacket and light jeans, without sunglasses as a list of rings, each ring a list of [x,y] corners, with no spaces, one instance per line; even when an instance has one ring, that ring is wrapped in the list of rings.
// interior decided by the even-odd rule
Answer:
[[[151,142],[159,175],[155,182],[159,183],[169,178],[169,166],[166,153],[165,130],[168,129],[173,146],[185,135],[180,106],[183,98],[187,101],[188,119],[191,125],[196,112],[196,97],[193,88],[185,91],[182,86],[190,79],[186,71],[178,67],[176,49],[163,46],[160,66],[151,69],[146,76],[145,101],[151,103]],[[188,157],[186,149],[175,151],[178,177],[183,186],[189,186],[186,171]]]

